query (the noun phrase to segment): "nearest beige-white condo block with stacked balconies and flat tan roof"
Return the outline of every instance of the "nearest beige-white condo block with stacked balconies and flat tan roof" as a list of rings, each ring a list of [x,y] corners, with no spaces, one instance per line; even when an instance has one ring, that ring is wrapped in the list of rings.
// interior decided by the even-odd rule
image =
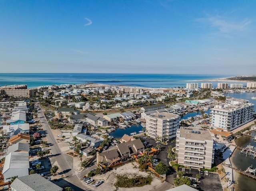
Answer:
[[[214,134],[205,128],[180,127],[176,137],[178,163],[210,169],[214,161],[214,138]]]

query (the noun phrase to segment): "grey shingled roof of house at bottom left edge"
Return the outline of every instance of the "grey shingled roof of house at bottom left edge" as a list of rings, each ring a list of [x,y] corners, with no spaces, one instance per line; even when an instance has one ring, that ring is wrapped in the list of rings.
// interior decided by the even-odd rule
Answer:
[[[17,177],[10,185],[12,191],[62,191],[62,187],[34,173]]]

